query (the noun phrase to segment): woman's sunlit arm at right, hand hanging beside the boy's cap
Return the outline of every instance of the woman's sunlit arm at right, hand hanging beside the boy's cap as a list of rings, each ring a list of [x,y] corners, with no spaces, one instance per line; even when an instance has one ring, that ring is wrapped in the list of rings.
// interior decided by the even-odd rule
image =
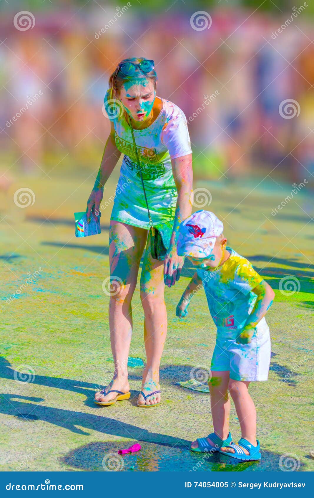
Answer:
[[[193,188],[192,154],[171,160],[173,177],[178,191],[175,222],[164,261],[164,281],[168,287],[180,278],[184,258],[177,254],[180,223],[192,213],[191,193]]]

